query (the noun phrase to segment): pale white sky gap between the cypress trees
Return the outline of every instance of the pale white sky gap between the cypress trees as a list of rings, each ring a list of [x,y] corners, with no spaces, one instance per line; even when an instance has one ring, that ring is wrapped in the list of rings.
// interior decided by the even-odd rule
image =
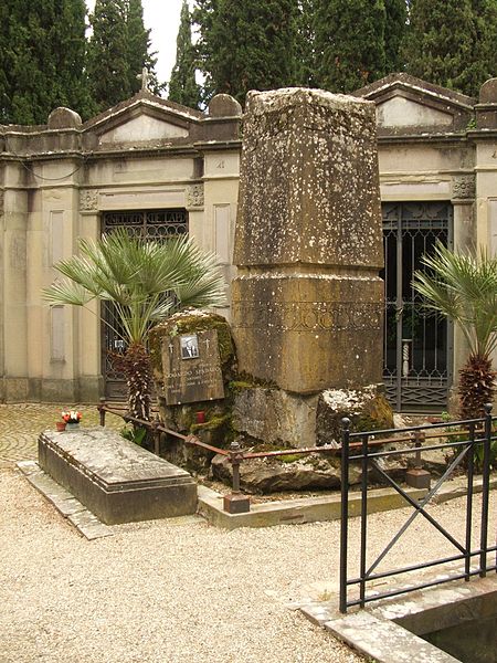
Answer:
[[[156,72],[159,82],[169,81],[176,61],[176,38],[182,0],[141,0],[145,28],[150,29],[151,51],[157,51]],[[192,2],[189,2],[190,7]],[[89,11],[95,0],[86,0]]]

